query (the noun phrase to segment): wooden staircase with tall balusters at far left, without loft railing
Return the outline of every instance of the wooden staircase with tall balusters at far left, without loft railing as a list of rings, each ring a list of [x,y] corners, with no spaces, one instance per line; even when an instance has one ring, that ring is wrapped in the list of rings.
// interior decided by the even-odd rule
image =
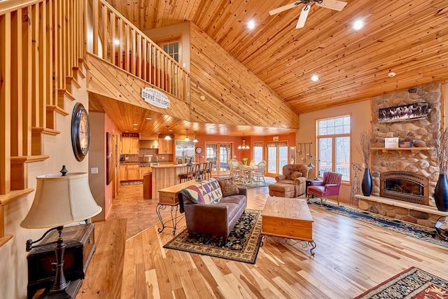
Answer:
[[[49,158],[44,135],[80,88],[85,57],[85,0],[0,2],[0,246],[5,206],[33,192],[28,165]]]

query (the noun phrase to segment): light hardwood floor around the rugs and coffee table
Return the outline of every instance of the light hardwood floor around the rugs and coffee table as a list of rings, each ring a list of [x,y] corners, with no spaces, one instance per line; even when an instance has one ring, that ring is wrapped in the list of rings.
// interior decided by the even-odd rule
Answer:
[[[248,208],[262,209],[267,192],[267,187],[249,189]],[[310,210],[316,255],[309,256],[301,243],[268,237],[255,265],[163,249],[172,230],[159,233],[156,223],[127,239],[121,295],[106,297],[353,298],[412,266],[448,278],[447,248]],[[184,228],[181,221],[178,232]],[[104,294],[90,298],[106,298]]]

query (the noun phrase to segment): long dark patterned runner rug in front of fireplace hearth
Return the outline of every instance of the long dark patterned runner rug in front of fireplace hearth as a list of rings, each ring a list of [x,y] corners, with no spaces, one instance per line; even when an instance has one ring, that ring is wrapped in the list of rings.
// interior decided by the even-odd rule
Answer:
[[[444,241],[439,237],[439,235],[437,235],[435,228],[428,228],[423,225],[400,221],[395,218],[381,216],[379,214],[362,211],[360,209],[353,209],[351,207],[344,207],[342,205],[337,206],[337,204],[332,204],[328,201],[324,201],[321,205],[321,201],[318,198],[311,199],[308,201],[308,203],[312,207],[316,207],[318,209],[325,209],[326,211],[331,211],[332,213],[350,217],[358,221],[363,221],[364,223],[369,223],[381,228],[386,228],[387,230],[393,230],[394,232],[399,232],[403,235],[422,239],[426,242],[448,248],[448,242]]]

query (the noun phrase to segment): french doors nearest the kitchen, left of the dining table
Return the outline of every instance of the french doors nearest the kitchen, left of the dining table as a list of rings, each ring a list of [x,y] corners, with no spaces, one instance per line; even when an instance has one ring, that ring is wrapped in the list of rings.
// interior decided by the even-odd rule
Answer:
[[[218,175],[229,171],[232,157],[232,144],[225,142],[206,142],[205,159],[212,161],[211,174]]]

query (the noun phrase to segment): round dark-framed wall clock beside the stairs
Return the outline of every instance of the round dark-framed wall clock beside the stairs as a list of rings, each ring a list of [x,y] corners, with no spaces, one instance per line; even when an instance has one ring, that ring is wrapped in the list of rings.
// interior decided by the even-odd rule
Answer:
[[[90,145],[90,122],[83,104],[76,103],[71,116],[71,146],[78,161],[84,160]]]

